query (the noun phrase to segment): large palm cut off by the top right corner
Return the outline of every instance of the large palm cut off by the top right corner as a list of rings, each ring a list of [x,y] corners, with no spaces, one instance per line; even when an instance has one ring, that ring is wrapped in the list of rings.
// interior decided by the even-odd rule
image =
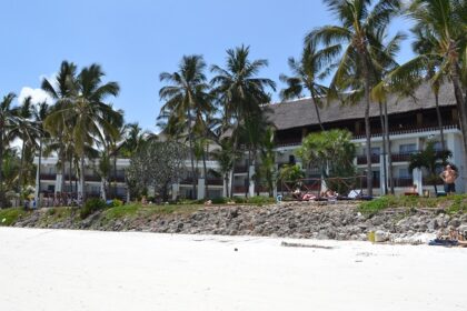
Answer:
[[[441,82],[449,80],[459,112],[464,149],[467,150],[467,2],[414,0],[408,14],[416,21],[414,31],[425,38],[415,42],[415,51],[419,54],[396,69],[389,81],[398,86],[410,84],[428,76],[436,94]],[[467,159],[465,161],[467,167]]]

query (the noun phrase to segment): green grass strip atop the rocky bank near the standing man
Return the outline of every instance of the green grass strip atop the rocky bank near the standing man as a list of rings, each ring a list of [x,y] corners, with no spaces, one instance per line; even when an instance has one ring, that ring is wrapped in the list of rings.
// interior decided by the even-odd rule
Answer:
[[[366,214],[375,214],[386,209],[443,209],[448,213],[467,212],[467,194],[456,194],[439,198],[420,198],[411,195],[384,195],[359,205],[359,211]]]

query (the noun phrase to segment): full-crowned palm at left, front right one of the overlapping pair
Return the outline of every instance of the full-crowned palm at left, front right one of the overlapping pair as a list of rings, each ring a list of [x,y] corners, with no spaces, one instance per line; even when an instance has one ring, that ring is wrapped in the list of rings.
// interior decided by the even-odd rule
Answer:
[[[54,130],[54,124],[63,122],[71,124],[68,132],[72,134],[74,150],[79,158],[80,185],[82,200],[86,200],[85,185],[85,158],[87,149],[98,141],[102,142],[106,136],[117,132],[109,120],[121,119],[119,111],[115,111],[111,104],[105,100],[109,96],[118,96],[117,82],[102,82],[106,74],[98,64],[85,67],[76,79],[76,94],[71,101],[67,101],[59,110],[53,111],[46,119],[46,128]]]

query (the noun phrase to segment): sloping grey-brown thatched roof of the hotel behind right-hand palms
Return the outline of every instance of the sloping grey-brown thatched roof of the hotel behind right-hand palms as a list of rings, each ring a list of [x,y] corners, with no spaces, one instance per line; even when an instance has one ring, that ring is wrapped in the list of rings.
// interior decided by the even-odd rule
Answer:
[[[342,106],[340,101],[326,103],[326,99],[322,102],[325,104],[319,109],[322,123],[365,118],[364,101],[354,106]],[[439,106],[446,107],[454,104],[456,104],[456,100],[453,86],[449,83],[444,84],[439,91]],[[272,103],[267,107],[271,110],[269,119],[278,130],[318,124],[315,107],[310,98]],[[420,87],[416,91],[415,98],[397,98],[396,96],[388,98],[389,114],[433,108],[435,108],[435,97],[428,84]],[[370,107],[370,117],[378,116],[379,107],[377,103],[372,103]]]

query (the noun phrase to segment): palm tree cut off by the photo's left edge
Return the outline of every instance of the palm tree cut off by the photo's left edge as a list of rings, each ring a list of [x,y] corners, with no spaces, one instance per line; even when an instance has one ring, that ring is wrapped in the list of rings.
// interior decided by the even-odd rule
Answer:
[[[6,208],[8,202],[3,191],[3,152],[9,144],[9,131],[14,120],[14,110],[11,107],[14,93],[8,93],[0,102],[0,208]]]

